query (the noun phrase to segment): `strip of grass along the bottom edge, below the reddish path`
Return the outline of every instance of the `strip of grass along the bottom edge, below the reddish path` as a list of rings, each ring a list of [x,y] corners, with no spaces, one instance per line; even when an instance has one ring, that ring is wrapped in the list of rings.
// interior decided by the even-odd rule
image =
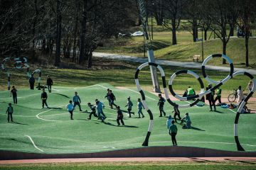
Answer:
[[[0,169],[34,169],[34,170],[47,170],[47,169],[97,169],[97,170],[129,170],[129,169],[142,169],[142,170],[148,170],[148,169],[176,169],[176,170],[184,170],[184,169],[190,169],[190,170],[201,170],[201,169],[208,169],[208,170],[217,170],[217,169],[230,169],[230,170],[236,170],[236,169],[256,169],[254,162],[248,162],[246,163],[239,163],[239,162],[194,162],[194,163],[188,163],[188,162],[135,162],[135,163],[129,163],[129,162],[123,162],[123,163],[69,163],[69,164],[21,164],[21,165],[11,165],[11,166],[0,166]]]

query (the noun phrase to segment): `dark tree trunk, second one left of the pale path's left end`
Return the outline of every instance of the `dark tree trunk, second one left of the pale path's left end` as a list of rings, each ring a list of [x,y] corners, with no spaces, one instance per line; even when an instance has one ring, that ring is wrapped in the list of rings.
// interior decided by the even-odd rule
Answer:
[[[82,29],[80,35],[80,55],[79,64],[85,61],[85,34],[86,34],[86,22],[87,22],[87,0],[83,0],[83,10],[82,10]]]

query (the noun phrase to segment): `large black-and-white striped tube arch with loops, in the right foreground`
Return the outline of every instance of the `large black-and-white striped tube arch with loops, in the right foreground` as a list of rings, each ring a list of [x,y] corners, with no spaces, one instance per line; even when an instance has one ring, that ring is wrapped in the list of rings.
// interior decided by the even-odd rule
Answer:
[[[223,59],[227,60],[228,63],[230,64],[230,74],[228,74],[228,76],[225,77],[225,79],[223,79],[221,81],[214,81],[214,80],[210,79],[208,77],[208,75],[206,74],[206,68],[205,67],[206,67],[207,62],[209,60],[215,58],[215,57],[222,57]],[[160,72],[161,78],[162,78],[162,83],[163,83],[163,87],[164,87],[164,94],[166,96],[166,100],[168,101],[168,103],[171,104],[171,106],[174,106],[174,107],[177,107],[177,108],[189,108],[189,107],[195,106],[196,103],[198,103],[198,101],[200,101],[203,96],[205,96],[206,94],[210,94],[212,91],[217,89],[219,86],[222,86],[229,79],[232,79],[233,77],[236,77],[238,75],[245,75],[245,76],[249,77],[253,81],[253,87],[252,87],[252,90],[250,91],[250,94],[248,94],[248,96],[242,101],[242,103],[240,103],[240,106],[238,108],[238,112],[236,113],[236,116],[235,116],[235,123],[234,123],[234,137],[235,137],[235,143],[237,145],[238,151],[245,151],[245,149],[240,145],[240,142],[238,140],[238,120],[239,120],[240,113],[242,112],[242,108],[245,106],[245,103],[249,100],[249,98],[252,96],[252,94],[256,90],[256,86],[255,86],[256,79],[252,76],[252,74],[250,74],[248,72],[235,72],[234,73],[234,66],[233,66],[232,60],[230,60],[230,58],[228,56],[221,55],[221,54],[210,55],[206,58],[206,60],[203,61],[202,73],[203,73],[204,79],[206,79],[206,81],[208,81],[210,84],[216,84],[215,86],[213,86],[211,89],[208,89],[207,91],[204,90],[202,79],[195,72],[192,72],[192,71],[189,71],[189,70],[181,70],[181,71],[178,71],[178,72],[174,73],[171,76],[171,78],[169,80],[169,91],[171,92],[171,94],[175,98],[177,98],[180,101],[188,101],[188,100],[191,100],[191,99],[196,99],[196,101],[193,101],[193,103],[186,104],[186,105],[178,105],[178,104],[174,103],[173,101],[171,101],[171,99],[169,98],[169,93],[168,93],[167,86],[166,86],[166,77],[165,77],[165,74],[164,74],[164,69],[162,69],[162,67],[159,64],[146,62],[144,64],[141,64],[137,68],[137,71],[135,73],[135,84],[137,86],[137,90],[139,91],[139,93],[142,96],[143,106],[146,109],[146,111],[149,113],[149,118],[150,118],[150,120],[149,120],[149,129],[148,129],[148,132],[146,133],[146,138],[145,138],[142,146],[148,146],[149,145],[149,137],[151,135],[151,131],[153,130],[153,126],[154,126],[153,113],[151,112],[151,110],[149,109],[149,107],[146,104],[146,98],[145,98],[145,95],[144,95],[144,91],[142,90],[142,88],[139,84],[139,72],[140,72],[140,70],[142,70],[146,66],[153,66],[153,67],[156,67],[157,69],[159,69],[159,72]],[[197,94],[197,95],[194,95],[194,96],[188,96],[188,97],[181,97],[178,94],[175,94],[175,92],[172,88],[172,83],[173,83],[175,77],[178,74],[190,74],[193,77],[195,77],[196,79],[198,79],[198,82],[201,86],[200,94]]]

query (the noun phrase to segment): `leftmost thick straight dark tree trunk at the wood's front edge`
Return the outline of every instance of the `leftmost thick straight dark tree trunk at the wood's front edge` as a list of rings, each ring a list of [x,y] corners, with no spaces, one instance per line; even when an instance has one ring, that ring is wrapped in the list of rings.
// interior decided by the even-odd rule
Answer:
[[[57,0],[57,30],[56,30],[56,52],[55,66],[60,66],[60,48],[61,48],[61,1]]]

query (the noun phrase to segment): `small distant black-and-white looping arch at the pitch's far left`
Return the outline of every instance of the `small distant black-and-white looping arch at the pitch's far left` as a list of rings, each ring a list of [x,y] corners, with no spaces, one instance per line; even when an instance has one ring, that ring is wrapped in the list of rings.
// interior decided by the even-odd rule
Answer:
[[[6,67],[4,66],[6,64],[6,62],[8,62],[8,61],[12,62],[11,64],[14,64],[15,69],[26,68],[27,75],[29,72],[29,65],[28,65],[28,60],[26,59],[26,57],[17,57],[17,58],[14,58],[14,60],[11,60],[11,57],[4,58],[4,60],[1,62],[1,69],[3,72],[6,72],[6,74],[7,74],[7,77],[8,77],[7,86],[8,86],[8,90],[10,90],[11,89],[11,74],[10,74],[10,72],[8,72],[9,70],[6,69]]]

